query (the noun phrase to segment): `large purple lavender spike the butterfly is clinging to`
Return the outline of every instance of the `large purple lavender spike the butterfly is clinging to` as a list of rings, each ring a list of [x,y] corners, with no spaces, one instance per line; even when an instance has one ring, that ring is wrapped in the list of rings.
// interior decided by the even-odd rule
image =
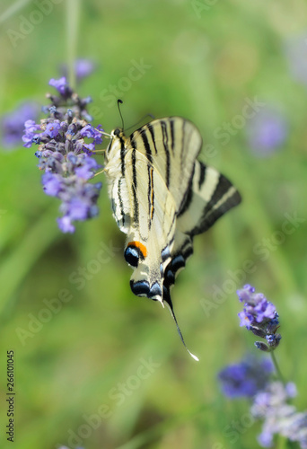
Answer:
[[[51,79],[49,84],[59,96],[48,94],[51,105],[44,108],[47,119],[41,119],[39,124],[34,120],[25,122],[23,146],[39,145],[35,155],[39,158],[39,169],[45,172],[43,189],[47,195],[61,200],[62,216],[57,219],[61,231],[74,233],[73,222],[98,215],[96,203],[101,182],[88,181],[101,167],[92,158],[95,145],[102,141],[101,126],[93,128],[86,121],[89,99],[80,99],[65,77]]]

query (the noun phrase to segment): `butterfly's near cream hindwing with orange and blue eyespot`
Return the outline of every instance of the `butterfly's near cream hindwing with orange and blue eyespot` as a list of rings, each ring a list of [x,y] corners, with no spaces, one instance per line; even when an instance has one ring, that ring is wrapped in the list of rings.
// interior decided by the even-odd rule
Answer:
[[[131,210],[125,259],[134,268],[130,286],[135,295],[162,303],[163,272],[176,228],[175,201],[145,154],[129,149],[125,164]]]

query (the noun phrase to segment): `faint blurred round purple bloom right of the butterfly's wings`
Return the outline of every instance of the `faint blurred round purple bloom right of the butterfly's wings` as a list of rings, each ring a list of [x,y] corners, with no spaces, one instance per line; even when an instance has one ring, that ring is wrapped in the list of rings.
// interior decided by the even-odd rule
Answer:
[[[253,153],[268,156],[284,144],[288,127],[282,114],[267,108],[250,119],[246,132]]]

